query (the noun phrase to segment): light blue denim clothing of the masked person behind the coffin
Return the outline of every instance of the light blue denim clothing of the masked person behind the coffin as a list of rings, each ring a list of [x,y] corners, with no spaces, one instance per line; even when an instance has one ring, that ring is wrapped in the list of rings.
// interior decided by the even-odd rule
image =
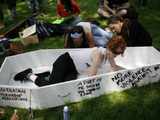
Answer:
[[[95,45],[98,47],[106,47],[106,44],[113,36],[112,32],[107,32],[95,24],[91,24],[91,31]]]

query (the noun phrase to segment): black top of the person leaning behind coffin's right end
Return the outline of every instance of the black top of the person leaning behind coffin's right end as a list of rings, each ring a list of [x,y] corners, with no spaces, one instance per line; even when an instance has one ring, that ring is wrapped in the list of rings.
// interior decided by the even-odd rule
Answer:
[[[120,33],[127,42],[127,46],[151,46],[152,38],[136,19],[124,21]]]

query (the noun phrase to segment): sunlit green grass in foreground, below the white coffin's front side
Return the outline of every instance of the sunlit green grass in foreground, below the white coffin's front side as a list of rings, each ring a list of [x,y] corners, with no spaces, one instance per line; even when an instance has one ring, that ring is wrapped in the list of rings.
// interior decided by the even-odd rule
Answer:
[[[156,120],[159,118],[160,83],[123,92],[114,92],[98,98],[69,104],[71,120]],[[6,109],[6,118],[13,108]],[[35,110],[35,120],[62,120],[63,106]],[[29,113],[19,109],[18,114],[28,120]],[[25,116],[25,117],[24,117]]]

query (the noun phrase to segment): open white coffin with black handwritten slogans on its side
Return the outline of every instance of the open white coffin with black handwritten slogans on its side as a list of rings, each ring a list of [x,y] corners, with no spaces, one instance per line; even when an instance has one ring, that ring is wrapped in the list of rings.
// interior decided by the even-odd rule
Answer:
[[[117,72],[43,87],[13,80],[26,68],[35,73],[51,70],[56,58],[66,51],[74,56],[79,68],[88,61],[91,49],[45,49],[7,57],[0,69],[0,106],[43,109],[160,80],[160,52],[153,47],[128,47],[123,57],[116,58],[116,63],[126,69]]]

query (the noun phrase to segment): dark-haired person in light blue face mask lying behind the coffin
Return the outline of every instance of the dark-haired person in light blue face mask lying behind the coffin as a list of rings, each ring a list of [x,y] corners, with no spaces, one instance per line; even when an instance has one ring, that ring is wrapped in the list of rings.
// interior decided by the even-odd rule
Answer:
[[[110,30],[105,31],[91,22],[79,22],[77,26],[74,26],[67,34],[64,47],[106,47],[106,44],[111,39],[112,35]]]

